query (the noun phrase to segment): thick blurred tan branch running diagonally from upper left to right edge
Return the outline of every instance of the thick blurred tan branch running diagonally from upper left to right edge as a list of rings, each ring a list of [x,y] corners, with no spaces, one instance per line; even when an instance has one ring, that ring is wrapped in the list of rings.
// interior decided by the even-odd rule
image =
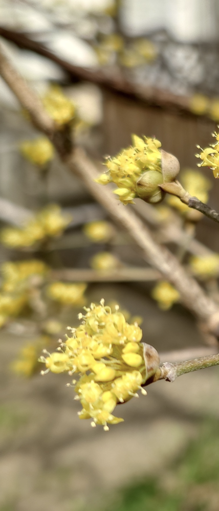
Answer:
[[[28,107],[29,114],[33,121],[37,120],[37,126],[43,132],[48,130],[48,126],[53,125],[52,121],[47,122],[48,116],[42,108],[41,103],[36,98],[24,80],[18,73],[12,69],[6,57],[0,56],[0,72],[12,88],[17,98],[22,101],[23,106]],[[25,102],[26,95],[23,94],[23,86],[25,84],[27,92],[27,106]],[[37,105],[37,106],[36,106]],[[45,121],[45,122],[44,122]],[[86,157],[84,151],[76,148],[71,153],[66,152],[65,155],[60,149],[59,140],[56,138],[56,131],[51,134],[51,140],[67,165],[68,169],[78,175],[84,185],[89,189],[90,193],[96,200],[107,210],[108,214],[128,231],[130,236],[136,241],[142,250],[143,257],[154,268],[163,274],[181,294],[182,303],[188,307],[191,312],[202,321],[206,321],[208,328],[218,334],[219,311],[218,305],[211,300],[192,277],[190,277],[184,268],[179,264],[177,259],[166,248],[157,245],[151,236],[150,231],[144,226],[142,221],[127,206],[119,205],[116,198],[109,187],[102,187],[94,182],[97,171],[93,163]],[[61,132],[60,132],[61,137]],[[62,145],[62,149],[64,144]]]

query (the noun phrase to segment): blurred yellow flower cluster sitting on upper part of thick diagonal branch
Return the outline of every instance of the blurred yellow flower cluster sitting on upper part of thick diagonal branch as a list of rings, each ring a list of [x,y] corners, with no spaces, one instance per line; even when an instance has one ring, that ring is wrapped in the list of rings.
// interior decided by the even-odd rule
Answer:
[[[47,94],[42,98],[42,103],[58,126],[68,124],[75,117],[75,105],[64,96],[59,85],[49,87]]]

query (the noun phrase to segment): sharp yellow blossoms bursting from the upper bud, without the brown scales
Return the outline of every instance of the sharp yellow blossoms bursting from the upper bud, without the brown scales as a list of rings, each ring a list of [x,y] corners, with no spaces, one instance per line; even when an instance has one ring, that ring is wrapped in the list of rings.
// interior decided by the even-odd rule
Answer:
[[[133,204],[135,197],[141,196],[139,181],[144,174],[144,199],[155,203],[160,201],[163,183],[161,170],[161,143],[159,140],[132,136],[133,146],[123,149],[115,158],[105,163],[107,172],[96,180],[101,185],[115,183],[118,188],[114,191],[123,204]],[[145,177],[146,176],[146,177]],[[146,191],[145,191],[146,188]]]

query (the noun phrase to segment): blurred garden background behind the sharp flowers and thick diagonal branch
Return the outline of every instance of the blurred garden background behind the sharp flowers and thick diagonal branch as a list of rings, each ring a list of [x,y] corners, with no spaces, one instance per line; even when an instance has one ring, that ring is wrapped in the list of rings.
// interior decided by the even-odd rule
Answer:
[[[219,123],[218,29],[217,0],[0,0],[7,56],[60,123],[57,102],[70,111],[74,140],[100,171],[135,133],[160,140],[182,175],[198,172],[196,145],[208,145]],[[81,306],[102,297],[138,318],[163,361],[164,352],[201,350],[205,339],[178,299],[153,293],[156,277],[138,248],[47,143],[28,145],[40,134],[2,79],[0,109],[0,511],[217,511],[217,368],[148,387],[120,407],[125,422],[108,433],[78,419],[68,375],[40,375],[41,349],[55,349]],[[202,172],[218,210],[211,174]],[[218,256],[217,225],[170,206],[137,199],[134,209],[186,266],[191,224],[199,243],[188,252]],[[26,230],[24,240],[31,221],[29,231],[46,234]],[[19,265],[33,259],[45,267]],[[46,265],[58,282],[71,269],[75,298],[60,300]],[[218,268],[217,260],[214,278],[198,275],[214,296]]]

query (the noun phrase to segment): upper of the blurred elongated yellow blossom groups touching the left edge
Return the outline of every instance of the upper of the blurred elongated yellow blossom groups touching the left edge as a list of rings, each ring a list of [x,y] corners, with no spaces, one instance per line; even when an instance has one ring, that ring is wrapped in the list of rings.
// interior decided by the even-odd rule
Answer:
[[[2,229],[0,239],[6,247],[31,247],[47,238],[59,236],[70,221],[71,217],[63,216],[58,205],[51,204],[36,213],[23,229],[13,227]]]

